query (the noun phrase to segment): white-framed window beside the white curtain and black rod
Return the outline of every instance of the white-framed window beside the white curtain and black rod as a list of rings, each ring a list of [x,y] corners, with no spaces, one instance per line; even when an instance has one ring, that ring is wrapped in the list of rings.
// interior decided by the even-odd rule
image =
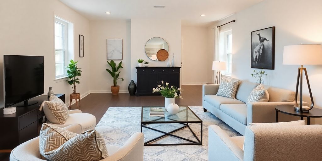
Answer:
[[[219,33],[219,61],[227,62],[227,70],[222,71],[223,75],[232,75],[232,30],[227,29]]]

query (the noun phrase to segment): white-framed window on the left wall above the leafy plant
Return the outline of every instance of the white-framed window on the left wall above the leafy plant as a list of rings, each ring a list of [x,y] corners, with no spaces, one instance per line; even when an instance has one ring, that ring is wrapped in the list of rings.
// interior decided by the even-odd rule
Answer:
[[[55,78],[67,76],[65,66],[73,59],[73,24],[55,16]]]

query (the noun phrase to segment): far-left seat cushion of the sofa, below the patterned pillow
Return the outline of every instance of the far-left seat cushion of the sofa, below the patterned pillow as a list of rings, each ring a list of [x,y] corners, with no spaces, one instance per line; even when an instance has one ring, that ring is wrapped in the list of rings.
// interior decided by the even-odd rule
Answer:
[[[227,97],[217,95],[205,95],[204,100],[216,107],[217,109],[220,109],[221,104],[245,104],[245,102],[240,101],[238,99],[230,99]]]

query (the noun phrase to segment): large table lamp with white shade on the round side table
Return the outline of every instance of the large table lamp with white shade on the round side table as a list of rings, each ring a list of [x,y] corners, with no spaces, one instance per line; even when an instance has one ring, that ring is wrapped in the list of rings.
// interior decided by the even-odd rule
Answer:
[[[284,46],[283,52],[284,65],[300,65],[298,68],[298,78],[296,82],[295,105],[294,109],[300,112],[308,112],[313,108],[313,97],[310,83],[308,81],[308,73],[303,65],[322,65],[322,45],[321,44],[301,44]],[[303,71],[305,72],[306,81],[308,83],[308,91],[311,97],[311,106],[303,106]],[[300,104],[298,104],[298,85],[300,83]]]

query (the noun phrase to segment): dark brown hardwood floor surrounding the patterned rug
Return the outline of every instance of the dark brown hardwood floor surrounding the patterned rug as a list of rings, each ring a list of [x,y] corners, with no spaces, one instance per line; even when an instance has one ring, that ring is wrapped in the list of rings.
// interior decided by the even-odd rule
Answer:
[[[202,85],[182,85],[183,99],[175,99],[178,105],[202,106]],[[128,93],[90,93],[81,99],[82,112],[96,117],[96,124],[103,117],[109,107],[140,107],[164,105],[162,96],[130,96]],[[75,104],[71,109],[76,109]],[[8,161],[10,153],[0,153],[0,160]]]

